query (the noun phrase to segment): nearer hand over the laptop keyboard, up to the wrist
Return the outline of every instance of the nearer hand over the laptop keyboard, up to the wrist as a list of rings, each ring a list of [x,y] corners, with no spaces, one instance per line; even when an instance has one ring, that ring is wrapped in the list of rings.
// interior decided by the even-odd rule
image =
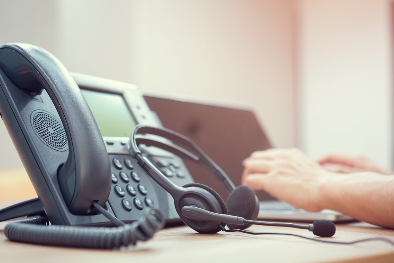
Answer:
[[[324,208],[320,188],[335,177],[299,149],[256,151],[243,166],[242,184],[311,211]]]

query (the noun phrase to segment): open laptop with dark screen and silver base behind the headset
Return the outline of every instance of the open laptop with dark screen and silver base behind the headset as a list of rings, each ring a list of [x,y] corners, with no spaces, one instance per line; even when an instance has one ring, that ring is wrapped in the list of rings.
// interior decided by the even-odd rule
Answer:
[[[241,184],[242,160],[253,151],[271,148],[255,114],[246,107],[197,102],[185,97],[168,98],[156,94],[145,94],[144,97],[164,127],[193,140],[227,173],[236,186]],[[224,200],[227,199],[225,188],[209,172],[193,162],[185,163],[196,183],[214,188]],[[260,201],[258,219],[304,222],[320,219],[333,222],[353,220],[331,210],[310,212],[297,209],[262,190],[257,191],[256,195]]]

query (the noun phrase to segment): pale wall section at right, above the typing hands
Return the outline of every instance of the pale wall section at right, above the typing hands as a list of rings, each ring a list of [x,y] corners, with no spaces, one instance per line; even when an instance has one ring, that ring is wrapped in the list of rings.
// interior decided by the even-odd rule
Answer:
[[[297,123],[310,157],[363,153],[392,167],[390,3],[300,1]]]

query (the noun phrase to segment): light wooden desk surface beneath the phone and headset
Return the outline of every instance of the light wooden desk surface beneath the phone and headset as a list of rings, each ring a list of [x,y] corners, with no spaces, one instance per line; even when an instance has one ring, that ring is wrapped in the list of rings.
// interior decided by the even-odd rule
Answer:
[[[10,176],[11,172],[3,174]],[[22,174],[22,175],[17,175]],[[0,173],[0,175],[2,175]],[[15,176],[25,178],[20,171]],[[17,177],[9,177],[16,180]],[[27,177],[26,177],[27,179]],[[28,179],[27,179],[28,180]],[[6,180],[9,182],[9,180]],[[2,180],[2,182],[4,182]],[[12,204],[9,197],[13,190],[0,184],[0,207]],[[20,185],[20,184],[17,184]],[[34,197],[26,183],[25,194],[17,188],[22,201]],[[15,189],[12,187],[12,189]],[[9,191],[6,195],[4,191]],[[23,192],[23,191],[22,191]],[[14,194],[14,198],[16,198]],[[247,235],[244,233],[198,234],[186,226],[162,229],[148,242],[121,250],[93,250],[61,248],[23,244],[6,239],[0,223],[0,262],[394,262],[394,247],[381,241],[354,245],[326,244],[281,235]],[[303,229],[252,226],[252,231],[294,233],[307,237],[314,235]],[[394,241],[394,230],[382,229],[366,223],[337,224],[334,237],[325,240],[354,241],[369,237],[387,237]],[[318,237],[316,237],[318,238]],[[187,261],[186,261],[187,260]]]

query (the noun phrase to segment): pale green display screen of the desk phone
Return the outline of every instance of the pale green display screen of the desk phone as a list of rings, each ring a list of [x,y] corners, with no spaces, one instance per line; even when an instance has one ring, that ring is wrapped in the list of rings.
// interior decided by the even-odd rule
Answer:
[[[121,95],[81,89],[103,137],[130,137],[137,125]]]

